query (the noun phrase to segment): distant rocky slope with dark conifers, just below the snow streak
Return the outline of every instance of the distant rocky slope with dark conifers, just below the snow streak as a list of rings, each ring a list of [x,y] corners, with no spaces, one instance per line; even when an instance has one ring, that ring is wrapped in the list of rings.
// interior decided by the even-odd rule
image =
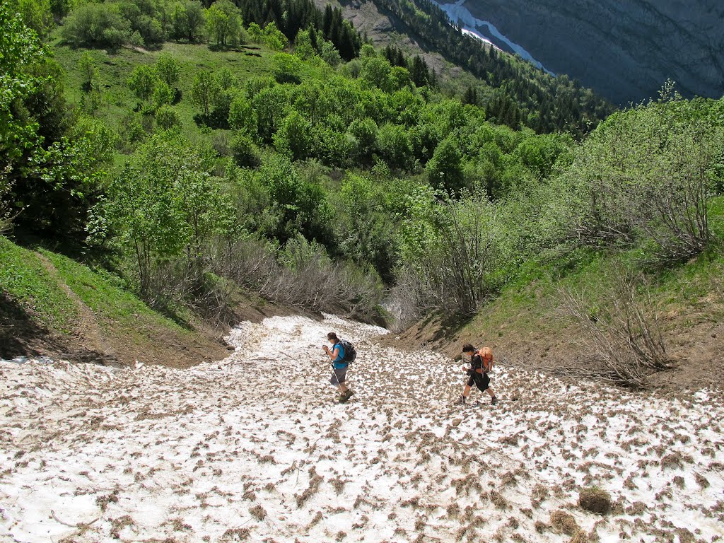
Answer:
[[[318,6],[326,3],[315,1]],[[342,14],[376,45],[392,44],[408,54],[422,52],[429,65],[452,76],[447,86],[453,92],[463,95],[460,88],[466,86],[468,92],[475,90],[477,98],[462,97],[463,101],[483,105],[487,119],[498,124],[580,136],[614,110],[605,98],[568,77],[552,77],[535,64],[500,54],[461,32],[432,1],[354,0],[342,4]]]

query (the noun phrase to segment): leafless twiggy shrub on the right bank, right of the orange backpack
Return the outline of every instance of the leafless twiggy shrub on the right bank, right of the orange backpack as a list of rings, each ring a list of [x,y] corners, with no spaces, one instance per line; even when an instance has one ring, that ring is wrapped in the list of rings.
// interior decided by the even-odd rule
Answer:
[[[642,292],[639,292],[639,286]],[[585,290],[560,290],[563,316],[587,332],[602,366],[557,369],[591,379],[643,388],[648,371],[670,366],[649,285],[639,277],[621,276],[599,303]],[[599,307],[595,312],[592,308]]]

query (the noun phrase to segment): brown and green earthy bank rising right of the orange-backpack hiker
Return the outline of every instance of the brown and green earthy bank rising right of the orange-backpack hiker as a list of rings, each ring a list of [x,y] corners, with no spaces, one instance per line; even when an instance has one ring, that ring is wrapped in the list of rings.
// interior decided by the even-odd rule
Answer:
[[[718,221],[717,221],[718,222]],[[721,224],[721,223],[719,223]],[[584,259],[585,260],[585,259]],[[460,345],[490,345],[502,363],[581,376],[599,364],[600,346],[581,323],[571,318],[564,292],[594,293],[589,313],[596,318],[605,304],[600,293],[626,274],[615,258],[579,261],[565,270],[561,261],[526,264],[518,281],[468,321],[431,316],[388,345],[434,348],[452,356]],[[655,316],[655,326],[670,357],[670,366],[652,371],[647,386],[675,392],[720,387],[724,371],[724,274],[722,256],[702,256],[662,274],[657,285],[640,293]]]

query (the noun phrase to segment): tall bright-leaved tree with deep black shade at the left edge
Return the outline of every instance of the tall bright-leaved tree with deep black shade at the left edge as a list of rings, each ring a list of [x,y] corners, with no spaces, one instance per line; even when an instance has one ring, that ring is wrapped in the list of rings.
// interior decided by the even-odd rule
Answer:
[[[0,185],[29,232],[82,239],[99,164],[93,133],[69,132],[62,70],[8,3],[0,4]]]

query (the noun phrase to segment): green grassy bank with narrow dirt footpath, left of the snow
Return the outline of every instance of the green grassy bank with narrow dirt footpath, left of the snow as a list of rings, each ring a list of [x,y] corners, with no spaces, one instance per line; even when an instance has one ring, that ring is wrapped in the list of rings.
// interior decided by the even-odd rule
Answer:
[[[187,366],[226,351],[190,314],[174,321],[119,280],[0,236],[0,357],[46,354]]]

